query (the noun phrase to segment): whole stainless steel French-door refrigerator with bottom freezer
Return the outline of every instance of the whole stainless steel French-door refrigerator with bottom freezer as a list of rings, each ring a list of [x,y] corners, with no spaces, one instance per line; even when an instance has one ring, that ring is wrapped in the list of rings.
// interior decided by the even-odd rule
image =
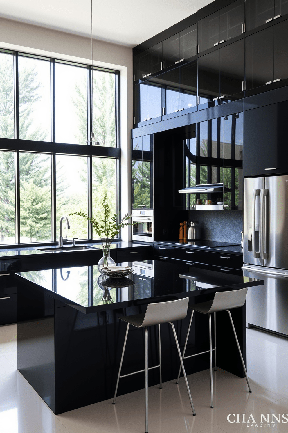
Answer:
[[[288,175],[244,179],[247,323],[288,335]]]

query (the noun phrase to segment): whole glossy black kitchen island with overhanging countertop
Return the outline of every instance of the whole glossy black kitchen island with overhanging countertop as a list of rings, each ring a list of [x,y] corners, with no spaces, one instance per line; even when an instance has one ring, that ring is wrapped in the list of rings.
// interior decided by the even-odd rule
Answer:
[[[129,280],[105,281],[97,266],[22,272],[15,278],[18,369],[55,414],[113,397],[126,330],[120,316],[144,312],[149,302],[188,296],[197,303],[211,299],[215,291],[263,284],[196,268],[187,273],[187,267],[158,260],[138,262]],[[246,360],[246,307],[231,313]],[[244,377],[228,314],[221,312],[216,317],[217,366]],[[188,311],[185,320],[175,323],[182,348],[189,320]],[[157,335],[156,327],[151,327],[149,365],[157,363]],[[143,368],[144,347],[143,331],[131,330],[123,374]],[[208,347],[208,319],[196,313],[187,350],[196,353]],[[168,324],[161,325],[161,350],[165,382],[176,378],[179,369]],[[187,374],[209,368],[209,354],[186,361],[185,368]],[[149,386],[158,381],[158,370],[151,370]],[[144,373],[137,380],[130,376],[120,381],[118,395],[140,388],[144,388]],[[191,393],[193,397],[193,390]]]

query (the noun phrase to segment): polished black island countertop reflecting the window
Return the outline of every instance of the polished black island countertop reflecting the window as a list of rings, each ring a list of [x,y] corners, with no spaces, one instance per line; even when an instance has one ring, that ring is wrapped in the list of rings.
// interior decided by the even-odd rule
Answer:
[[[154,277],[147,275],[148,265],[152,265]],[[48,292],[60,301],[60,307],[70,305],[83,313],[147,304],[147,298],[160,302],[263,284],[253,278],[201,269],[187,274],[187,268],[158,260],[134,262],[134,266],[136,270],[129,277],[109,280],[100,274],[97,266],[21,272],[15,277]]]

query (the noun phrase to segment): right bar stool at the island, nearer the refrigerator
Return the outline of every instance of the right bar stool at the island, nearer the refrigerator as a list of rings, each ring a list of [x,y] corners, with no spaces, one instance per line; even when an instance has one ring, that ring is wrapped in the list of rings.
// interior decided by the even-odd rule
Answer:
[[[238,290],[233,290],[233,291],[216,292],[214,299],[212,301],[202,302],[199,304],[190,304],[188,306],[189,308],[192,309],[192,313],[191,313],[190,323],[188,326],[188,331],[187,331],[186,341],[185,341],[185,345],[184,345],[182,360],[192,358],[193,356],[202,355],[203,353],[210,352],[211,408],[213,408],[213,377],[212,377],[212,351],[213,350],[214,350],[214,356],[215,356],[214,370],[216,371],[216,312],[217,311],[224,311],[224,310],[228,311],[228,314],[229,314],[229,317],[231,320],[231,324],[232,324],[232,328],[233,328],[233,332],[234,332],[234,336],[236,339],[237,347],[238,347],[239,354],[241,357],[241,362],[242,362],[242,365],[244,368],[249,392],[252,392],[251,388],[250,388],[249,379],[247,376],[247,371],[246,371],[245,364],[244,364],[244,359],[243,359],[243,356],[241,353],[241,349],[240,349],[239,342],[237,339],[236,331],[234,328],[234,323],[233,323],[233,320],[231,317],[231,313],[229,311],[229,310],[232,310],[233,308],[243,307],[243,305],[245,304],[245,301],[246,301],[247,291],[248,291],[248,289],[244,288],[244,289],[238,289]],[[194,355],[185,356],[185,351],[186,351],[186,347],[187,347],[187,342],[188,342],[188,337],[189,337],[189,333],[190,333],[190,327],[191,327],[194,311],[198,311],[199,313],[203,313],[203,314],[208,314],[208,317],[209,317],[209,350],[206,350],[205,352],[195,353]],[[214,313],[214,343],[215,343],[214,349],[212,349],[211,313]],[[180,369],[179,369],[176,383],[179,382],[181,367],[182,367],[182,364],[180,365]]]

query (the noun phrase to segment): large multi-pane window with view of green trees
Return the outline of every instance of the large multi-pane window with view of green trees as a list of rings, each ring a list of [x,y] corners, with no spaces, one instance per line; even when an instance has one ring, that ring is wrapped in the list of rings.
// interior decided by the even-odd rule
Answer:
[[[56,242],[104,195],[118,212],[118,107],[117,71],[0,50],[0,245]],[[63,236],[97,239],[69,218]]]

